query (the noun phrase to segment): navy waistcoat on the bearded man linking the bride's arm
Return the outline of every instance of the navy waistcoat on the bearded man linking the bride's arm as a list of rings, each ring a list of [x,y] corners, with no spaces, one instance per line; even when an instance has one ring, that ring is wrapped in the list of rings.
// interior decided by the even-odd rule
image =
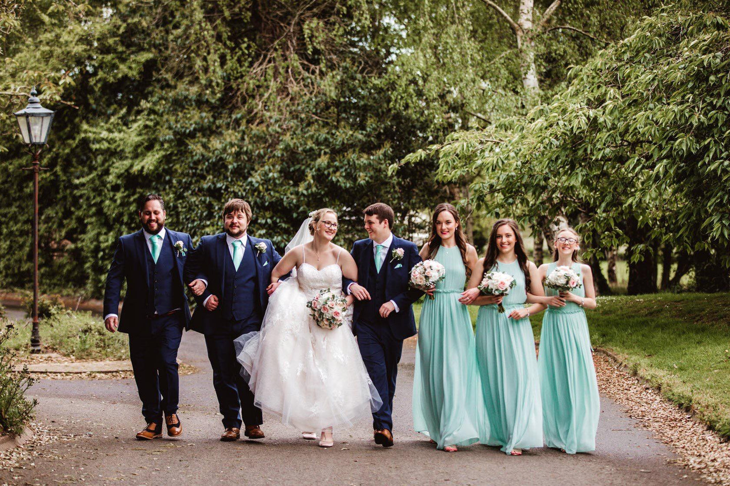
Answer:
[[[233,257],[226,245],[226,277],[223,282],[223,318],[228,320],[248,320],[258,315],[258,293],[256,292],[255,248],[246,245],[241,264],[233,266]]]

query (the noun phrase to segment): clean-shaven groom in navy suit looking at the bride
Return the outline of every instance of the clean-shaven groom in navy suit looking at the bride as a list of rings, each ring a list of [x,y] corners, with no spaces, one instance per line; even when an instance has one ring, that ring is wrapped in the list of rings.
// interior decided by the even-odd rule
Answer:
[[[356,298],[353,332],[373,385],[383,406],[372,414],[376,444],[393,445],[393,396],[403,340],[415,335],[412,304],[423,295],[410,289],[410,271],[421,261],[415,243],[393,236],[395,215],[388,204],[367,207],[365,230],[370,236],[353,245],[358,282],[343,279]]]

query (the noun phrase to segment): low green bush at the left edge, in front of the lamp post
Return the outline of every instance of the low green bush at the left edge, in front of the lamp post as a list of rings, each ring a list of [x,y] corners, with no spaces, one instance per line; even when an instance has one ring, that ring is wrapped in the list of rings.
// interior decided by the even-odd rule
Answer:
[[[6,320],[0,322],[4,326],[0,329],[0,432],[20,435],[37,404],[37,400],[25,398],[26,390],[36,380],[27,366],[23,366],[23,371],[12,371],[17,352],[8,346],[8,341],[15,330]]]

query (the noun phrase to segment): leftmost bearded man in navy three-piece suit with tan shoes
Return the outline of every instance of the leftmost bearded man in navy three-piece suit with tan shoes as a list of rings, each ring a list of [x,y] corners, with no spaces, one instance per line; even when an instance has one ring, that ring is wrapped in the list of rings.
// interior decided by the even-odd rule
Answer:
[[[107,274],[104,325],[112,333],[129,335],[134,380],[147,423],[137,439],[145,440],[162,436],[163,414],[169,436],[183,431],[177,417],[177,348],[191,319],[183,269],[192,242],[190,235],[165,228],[160,196],[145,196],[138,215],[142,229],[120,237]],[[118,316],[124,279],[127,292]]]

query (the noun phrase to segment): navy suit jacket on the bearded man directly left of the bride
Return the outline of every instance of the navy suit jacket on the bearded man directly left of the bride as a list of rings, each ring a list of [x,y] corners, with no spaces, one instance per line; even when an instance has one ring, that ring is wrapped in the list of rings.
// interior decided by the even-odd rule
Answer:
[[[266,306],[269,305],[269,294],[266,293],[266,287],[271,283],[272,270],[281,260],[281,256],[274,250],[274,245],[268,239],[258,239],[253,236],[246,236],[246,238],[248,240],[246,242],[246,251],[255,252],[258,296],[253,296],[253,298],[258,298],[259,304],[261,304],[261,312],[266,312]],[[261,242],[266,244],[265,252],[259,252],[254,247],[255,244]],[[208,282],[205,291],[200,296],[195,297],[198,305],[195,312],[193,312],[190,325],[193,331],[209,334],[213,333],[218,325],[220,309],[222,308],[220,300],[223,298],[226,258],[231,258],[231,252],[228,250],[225,233],[203,236],[198,246],[188,257],[188,262],[185,265],[185,282],[190,283],[195,279],[206,279]],[[218,308],[212,312],[203,306],[205,299],[211,295],[218,297]],[[246,297],[241,296],[240,298]],[[261,317],[264,316],[261,315]]]

